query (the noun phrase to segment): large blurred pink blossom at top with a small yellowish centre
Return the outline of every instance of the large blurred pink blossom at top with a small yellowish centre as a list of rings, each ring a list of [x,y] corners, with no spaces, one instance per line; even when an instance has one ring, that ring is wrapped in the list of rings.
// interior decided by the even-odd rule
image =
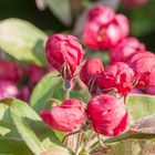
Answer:
[[[103,10],[99,11],[101,14],[96,13],[99,17],[91,18],[91,21],[85,25],[83,39],[90,48],[110,49],[128,35],[127,18],[123,14],[112,16],[110,8],[103,8]]]

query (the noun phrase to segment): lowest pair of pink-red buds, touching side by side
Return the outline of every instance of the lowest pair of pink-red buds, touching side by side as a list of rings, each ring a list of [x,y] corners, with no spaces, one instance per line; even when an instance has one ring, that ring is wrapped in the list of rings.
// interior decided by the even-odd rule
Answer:
[[[130,123],[124,103],[104,94],[91,99],[85,111],[81,101],[70,99],[61,105],[54,104],[50,111],[43,110],[41,117],[45,124],[61,132],[75,132],[87,118],[96,133],[107,136],[121,134]]]

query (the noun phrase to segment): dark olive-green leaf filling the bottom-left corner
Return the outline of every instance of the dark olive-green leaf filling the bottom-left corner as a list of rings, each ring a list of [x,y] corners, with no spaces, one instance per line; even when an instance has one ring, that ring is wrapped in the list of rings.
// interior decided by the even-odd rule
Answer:
[[[0,155],[33,155],[20,138],[0,137]]]

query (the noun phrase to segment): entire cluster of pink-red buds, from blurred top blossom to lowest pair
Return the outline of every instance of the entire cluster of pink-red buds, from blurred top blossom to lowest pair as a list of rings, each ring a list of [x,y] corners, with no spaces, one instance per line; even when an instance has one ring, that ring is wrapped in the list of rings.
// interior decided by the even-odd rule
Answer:
[[[142,93],[137,90],[142,87],[152,94],[155,90],[155,54],[146,51],[136,38],[128,37],[128,20],[107,7],[96,6],[87,12],[84,42],[93,49],[110,50],[107,66],[96,58],[82,62],[82,46],[75,37],[59,33],[49,37],[45,43],[49,63],[70,82],[80,73],[92,99],[85,106],[75,99],[53,104],[50,111],[41,112],[45,124],[61,132],[74,132],[82,124],[91,124],[92,130],[106,136],[126,130],[130,116],[120,96]]]

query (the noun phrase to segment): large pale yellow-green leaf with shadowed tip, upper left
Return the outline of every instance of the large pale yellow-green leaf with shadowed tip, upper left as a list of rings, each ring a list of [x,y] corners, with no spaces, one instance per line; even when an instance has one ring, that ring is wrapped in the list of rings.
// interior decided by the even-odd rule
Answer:
[[[45,39],[44,32],[27,21],[8,19],[0,22],[0,48],[19,61],[46,65]]]

